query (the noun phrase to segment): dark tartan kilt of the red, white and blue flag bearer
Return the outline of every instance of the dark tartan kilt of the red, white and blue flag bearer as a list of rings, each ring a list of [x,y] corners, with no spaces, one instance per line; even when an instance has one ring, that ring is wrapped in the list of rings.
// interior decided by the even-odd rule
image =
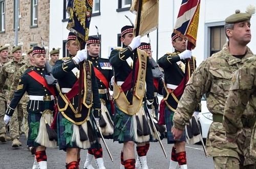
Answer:
[[[166,125],[166,130],[167,130],[167,143],[168,144],[186,141],[186,132],[182,133],[182,136],[179,140],[174,140],[174,136],[172,133],[173,117],[174,117],[174,111],[168,109],[168,107],[166,106],[164,109],[164,120],[165,120],[165,125]]]

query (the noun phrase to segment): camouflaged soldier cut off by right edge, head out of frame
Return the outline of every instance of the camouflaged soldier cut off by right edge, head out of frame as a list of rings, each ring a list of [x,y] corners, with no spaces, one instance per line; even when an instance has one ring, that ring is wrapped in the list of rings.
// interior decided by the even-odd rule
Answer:
[[[243,143],[240,148],[244,155],[254,157],[256,157],[254,141],[256,139],[254,125],[256,119],[255,91],[256,56],[253,56],[233,75],[224,109],[223,126],[226,130],[227,140]],[[253,130],[251,131],[252,127]],[[247,137],[241,137],[241,134]],[[251,139],[248,139],[249,137]],[[254,162],[245,158],[244,163]]]

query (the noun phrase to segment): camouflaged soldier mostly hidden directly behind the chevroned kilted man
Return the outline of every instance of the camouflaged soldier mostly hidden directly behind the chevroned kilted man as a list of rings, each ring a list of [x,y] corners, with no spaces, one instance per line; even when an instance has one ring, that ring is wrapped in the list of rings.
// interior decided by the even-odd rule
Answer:
[[[13,98],[14,91],[16,91],[19,79],[22,77],[24,74],[25,70],[28,68],[33,68],[33,63],[32,63],[32,52],[33,48],[31,47],[27,53],[27,57],[25,58],[25,64],[19,68],[18,71],[15,72],[14,78],[13,78],[13,83],[11,85],[11,90],[10,90],[10,99]],[[26,135],[26,138],[28,138],[28,111],[27,111],[27,106],[29,102],[29,95],[27,92],[23,95],[22,99],[19,101],[20,104],[22,104],[22,109],[23,109],[23,116],[24,116],[24,132]]]

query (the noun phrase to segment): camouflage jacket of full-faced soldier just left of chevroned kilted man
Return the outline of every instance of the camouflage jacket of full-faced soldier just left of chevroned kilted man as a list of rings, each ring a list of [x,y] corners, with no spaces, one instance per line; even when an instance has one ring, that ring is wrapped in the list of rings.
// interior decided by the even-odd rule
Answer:
[[[13,82],[15,72],[24,64],[24,61],[16,62],[11,60],[2,67],[0,72],[0,89],[2,89],[1,93],[5,94],[6,98],[9,98],[10,86]],[[8,89],[3,90],[6,85]]]

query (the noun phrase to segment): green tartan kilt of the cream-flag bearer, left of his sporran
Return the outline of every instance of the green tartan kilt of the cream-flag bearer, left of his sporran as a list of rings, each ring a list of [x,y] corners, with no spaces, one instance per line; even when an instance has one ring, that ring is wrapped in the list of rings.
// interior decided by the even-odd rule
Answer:
[[[132,133],[132,116],[122,112],[115,105],[115,115],[114,115],[114,141],[123,143],[126,141],[134,141]]]

